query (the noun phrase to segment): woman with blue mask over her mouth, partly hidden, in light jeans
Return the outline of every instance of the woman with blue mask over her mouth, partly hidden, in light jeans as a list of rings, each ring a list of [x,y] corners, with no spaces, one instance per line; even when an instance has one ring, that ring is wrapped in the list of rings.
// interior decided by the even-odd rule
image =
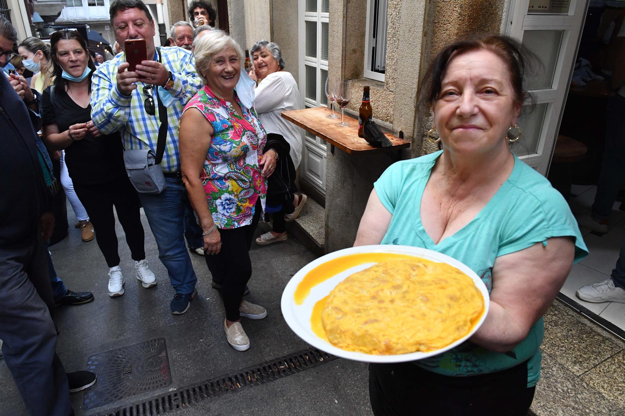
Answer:
[[[50,46],[37,37],[27,37],[17,47],[19,56],[22,57],[22,65],[34,72],[31,78],[31,88],[43,92],[54,83],[54,72],[51,59]],[[58,159],[55,157],[54,159]],[[69,199],[69,203],[76,214],[78,224],[76,228],[81,230],[81,238],[84,242],[94,238],[93,225],[89,222],[89,215],[84,209],[82,202],[76,196],[74,185],[68,175],[68,167],[65,164],[65,154],[61,152],[61,185]]]

